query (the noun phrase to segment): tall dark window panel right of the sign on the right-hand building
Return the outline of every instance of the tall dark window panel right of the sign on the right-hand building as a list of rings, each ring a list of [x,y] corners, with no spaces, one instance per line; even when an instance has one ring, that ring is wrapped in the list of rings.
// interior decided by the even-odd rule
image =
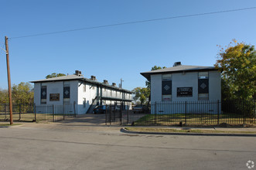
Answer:
[[[209,100],[209,73],[198,73],[198,100]]]

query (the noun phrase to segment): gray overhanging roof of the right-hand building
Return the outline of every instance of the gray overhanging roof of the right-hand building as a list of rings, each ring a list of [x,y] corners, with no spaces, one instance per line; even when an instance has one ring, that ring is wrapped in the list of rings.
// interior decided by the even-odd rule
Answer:
[[[197,72],[197,71],[213,71],[217,70],[214,66],[172,66],[169,68],[161,69],[161,70],[152,70],[148,72],[141,73],[142,76],[145,76],[146,79],[150,80],[150,75],[152,74],[164,74],[164,73],[181,73],[181,72]]]

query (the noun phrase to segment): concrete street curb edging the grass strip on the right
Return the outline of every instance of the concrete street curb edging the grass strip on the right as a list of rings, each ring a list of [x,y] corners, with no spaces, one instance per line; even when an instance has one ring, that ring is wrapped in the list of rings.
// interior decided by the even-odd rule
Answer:
[[[125,128],[120,129],[121,132],[127,134],[167,134],[167,135],[189,135],[189,136],[234,136],[234,137],[256,137],[256,134],[203,134],[203,133],[164,133],[164,132],[141,132],[128,131]]]

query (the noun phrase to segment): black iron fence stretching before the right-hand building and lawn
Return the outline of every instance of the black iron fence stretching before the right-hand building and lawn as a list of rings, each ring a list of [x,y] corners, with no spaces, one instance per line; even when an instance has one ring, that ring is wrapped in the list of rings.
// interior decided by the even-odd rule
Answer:
[[[155,102],[141,111],[107,108],[106,124],[256,124],[254,100]]]

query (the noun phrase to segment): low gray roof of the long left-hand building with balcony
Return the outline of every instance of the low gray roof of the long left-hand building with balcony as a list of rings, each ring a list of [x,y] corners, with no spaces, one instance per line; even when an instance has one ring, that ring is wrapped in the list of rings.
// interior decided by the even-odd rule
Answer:
[[[46,82],[70,81],[70,80],[80,80],[81,82],[88,82],[88,83],[92,83],[92,84],[101,85],[103,87],[109,87],[111,89],[116,89],[116,90],[121,90],[121,91],[131,93],[130,90],[121,89],[119,87],[114,87],[114,86],[111,86],[111,85],[106,84],[106,83],[101,83],[101,82],[98,82],[96,80],[90,80],[90,79],[84,78],[84,76],[77,76],[77,75],[74,75],[74,74],[73,75],[67,75],[67,76],[58,76],[58,77],[53,77],[53,78],[43,79],[43,80],[34,80],[34,81],[30,81],[30,83],[46,83]]]

